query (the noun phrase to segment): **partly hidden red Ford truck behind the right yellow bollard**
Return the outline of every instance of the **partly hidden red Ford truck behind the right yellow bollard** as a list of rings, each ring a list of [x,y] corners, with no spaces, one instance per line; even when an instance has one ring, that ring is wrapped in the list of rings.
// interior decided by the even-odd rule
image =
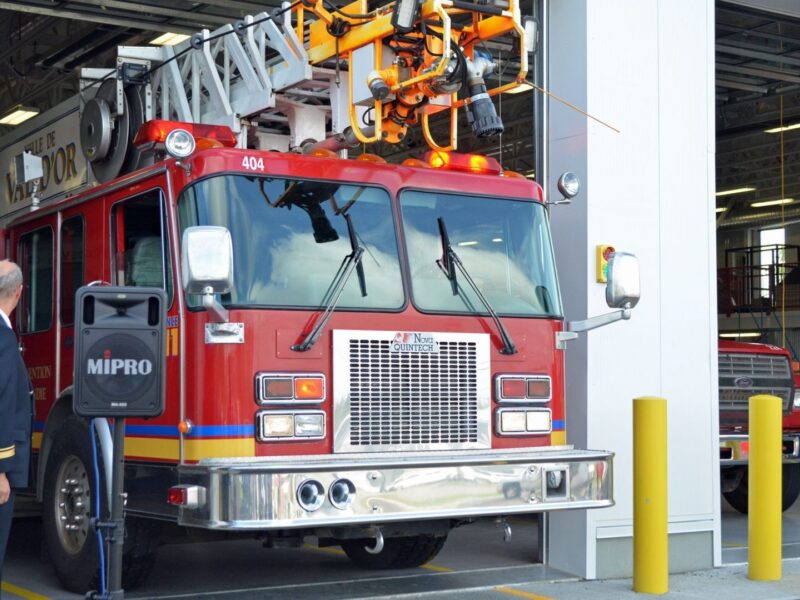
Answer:
[[[783,510],[800,496],[800,375],[778,346],[719,340],[719,422],[722,493],[747,513],[748,399],[772,394],[783,401]]]

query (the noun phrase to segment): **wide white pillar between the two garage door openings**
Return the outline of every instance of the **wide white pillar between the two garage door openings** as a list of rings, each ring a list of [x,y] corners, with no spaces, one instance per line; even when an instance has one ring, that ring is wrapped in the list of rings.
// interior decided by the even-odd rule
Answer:
[[[616,506],[551,517],[549,562],[587,578],[631,576],[632,398],[668,399],[670,570],[720,563],[714,2],[551,0],[550,172],[583,182],[551,209],[568,319],[608,312],[595,247],[638,255],[627,322],[580,334],[567,357],[567,441],[616,453]]]

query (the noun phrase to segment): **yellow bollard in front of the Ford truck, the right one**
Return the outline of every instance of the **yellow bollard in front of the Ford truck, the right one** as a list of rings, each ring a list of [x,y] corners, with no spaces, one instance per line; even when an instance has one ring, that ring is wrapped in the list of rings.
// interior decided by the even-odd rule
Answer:
[[[781,411],[777,396],[750,398],[747,576],[762,581],[781,578]]]

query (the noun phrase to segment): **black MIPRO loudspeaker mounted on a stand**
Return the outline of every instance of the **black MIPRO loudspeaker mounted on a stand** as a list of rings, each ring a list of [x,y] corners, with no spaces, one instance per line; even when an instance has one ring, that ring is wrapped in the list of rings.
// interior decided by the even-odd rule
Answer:
[[[77,291],[75,414],[146,418],[164,412],[166,320],[167,295],[158,288]]]

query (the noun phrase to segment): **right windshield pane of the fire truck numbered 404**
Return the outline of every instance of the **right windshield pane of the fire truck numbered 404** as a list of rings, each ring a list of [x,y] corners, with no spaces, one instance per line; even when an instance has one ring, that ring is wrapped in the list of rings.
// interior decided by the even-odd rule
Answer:
[[[536,202],[408,190],[400,195],[414,303],[430,312],[482,312],[463,277],[458,295],[436,261],[437,218],[450,244],[499,314],[561,316],[550,231]]]

